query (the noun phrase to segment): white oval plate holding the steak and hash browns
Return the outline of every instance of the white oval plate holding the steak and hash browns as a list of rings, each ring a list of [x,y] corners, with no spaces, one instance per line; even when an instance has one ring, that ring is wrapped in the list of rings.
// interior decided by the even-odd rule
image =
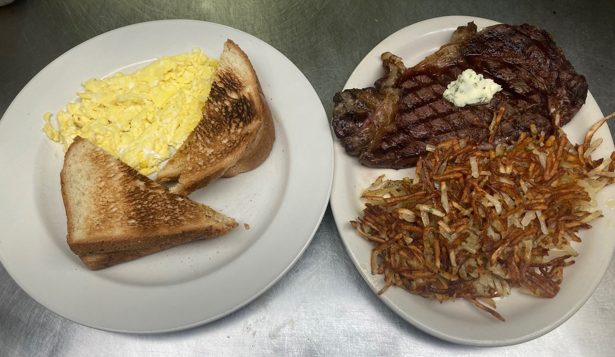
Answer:
[[[448,16],[432,18],[400,29],[363,58],[344,89],[373,86],[383,72],[381,53],[390,51],[402,57],[405,66],[413,66],[434,53],[440,45],[450,42],[451,34],[457,26],[466,25],[470,21],[474,21],[478,27],[496,24],[484,18]],[[566,125],[565,131],[573,143],[582,142],[589,127],[602,117],[600,108],[588,93],[585,105],[572,122]],[[615,150],[613,138],[606,125],[603,125],[594,137],[604,139],[600,152],[597,152],[595,157],[608,157],[611,151]],[[344,152],[344,147],[338,140],[334,145],[334,155],[331,207],[335,222],[352,261],[371,289],[376,292],[384,286],[384,280],[381,275],[372,276],[370,272],[373,245],[360,237],[349,221],[363,216],[364,201],[359,200],[359,197],[363,189],[370,186],[379,175],[384,173],[387,178],[400,179],[404,176],[414,177],[415,170],[411,168],[395,171],[362,166],[357,157]],[[438,304],[435,300],[395,287],[388,289],[380,298],[411,324],[450,342],[475,346],[503,346],[535,339],[568,320],[589,299],[600,283],[615,247],[615,211],[604,205],[613,197],[615,186],[601,190],[598,209],[603,211],[605,218],[593,221],[593,229],[581,232],[583,243],[573,242],[579,256],[574,259],[576,264],[564,270],[563,283],[557,296],[554,299],[539,299],[514,289],[511,296],[497,302],[497,310],[506,318],[506,323],[479,310],[467,300]]]

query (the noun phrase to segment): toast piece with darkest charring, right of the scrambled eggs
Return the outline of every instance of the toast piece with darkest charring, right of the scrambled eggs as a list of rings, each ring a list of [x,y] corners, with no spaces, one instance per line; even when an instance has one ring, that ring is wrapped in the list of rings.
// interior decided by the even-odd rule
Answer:
[[[156,180],[178,179],[171,192],[187,195],[263,163],[276,133],[262,92],[247,55],[224,42],[203,118]]]

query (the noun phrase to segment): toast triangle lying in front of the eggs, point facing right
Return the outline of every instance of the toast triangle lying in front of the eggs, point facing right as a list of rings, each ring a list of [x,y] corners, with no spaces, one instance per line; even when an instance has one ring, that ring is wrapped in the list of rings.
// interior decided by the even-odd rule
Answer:
[[[66,152],[60,182],[66,241],[78,255],[178,245],[237,227],[234,219],[171,194],[81,137]]]

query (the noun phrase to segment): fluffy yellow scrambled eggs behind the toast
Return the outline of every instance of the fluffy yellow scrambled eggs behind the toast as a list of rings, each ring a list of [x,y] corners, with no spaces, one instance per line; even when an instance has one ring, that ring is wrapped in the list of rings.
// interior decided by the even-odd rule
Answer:
[[[57,115],[60,130],[44,115],[43,130],[68,149],[87,138],[143,175],[160,171],[169,147],[179,149],[199,124],[218,61],[200,49],[162,57],[132,74],[83,82],[81,101]]]

